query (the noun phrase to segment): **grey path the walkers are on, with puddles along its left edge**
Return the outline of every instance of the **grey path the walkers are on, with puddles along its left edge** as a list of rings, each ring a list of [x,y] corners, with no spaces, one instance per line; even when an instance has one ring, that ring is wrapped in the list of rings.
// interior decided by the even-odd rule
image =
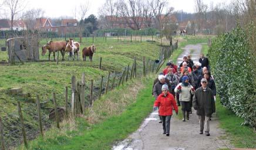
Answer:
[[[177,64],[180,64],[183,56],[187,56],[190,52],[193,61],[197,62],[200,51],[201,45],[187,45],[184,47],[184,52],[178,57]],[[195,110],[193,110],[193,114],[190,115],[190,120],[186,122],[179,120],[176,115],[173,115],[171,117],[170,137],[166,137],[166,135],[162,134],[163,126],[159,124],[158,113],[154,111],[144,120],[143,124],[136,132],[129,135],[127,139],[116,146],[113,146],[112,149],[215,150],[220,148],[232,148],[227,140],[221,139],[221,137],[225,136],[225,133],[218,128],[218,119],[214,116],[215,114],[213,114],[213,118],[210,121],[210,137],[206,137],[205,134],[199,134],[199,122]]]

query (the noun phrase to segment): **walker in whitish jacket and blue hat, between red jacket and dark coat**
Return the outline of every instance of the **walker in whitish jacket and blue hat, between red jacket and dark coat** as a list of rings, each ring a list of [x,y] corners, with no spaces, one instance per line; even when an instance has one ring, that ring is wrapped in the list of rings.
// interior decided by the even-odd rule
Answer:
[[[191,86],[191,84],[188,82],[189,78],[188,76],[183,76],[182,77],[182,83],[179,83],[174,91],[176,93],[180,93],[180,103],[181,103],[181,110],[183,114],[183,119],[182,121],[189,120],[189,111],[190,111],[190,98],[191,95],[194,94],[194,87]]]

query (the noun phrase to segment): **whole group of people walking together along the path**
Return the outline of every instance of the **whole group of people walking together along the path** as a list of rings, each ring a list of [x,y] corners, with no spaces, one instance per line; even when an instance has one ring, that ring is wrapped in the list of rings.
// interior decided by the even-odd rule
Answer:
[[[163,134],[170,135],[173,109],[178,114],[177,106],[181,105],[182,121],[189,120],[193,106],[200,122],[199,133],[203,134],[205,131],[207,136],[210,135],[211,114],[215,112],[216,87],[210,73],[209,60],[204,54],[200,54],[200,59],[195,64],[190,55],[183,57],[180,66],[169,60],[166,68],[154,80],[152,95],[156,99],[153,110],[159,109],[159,123],[163,123]]]

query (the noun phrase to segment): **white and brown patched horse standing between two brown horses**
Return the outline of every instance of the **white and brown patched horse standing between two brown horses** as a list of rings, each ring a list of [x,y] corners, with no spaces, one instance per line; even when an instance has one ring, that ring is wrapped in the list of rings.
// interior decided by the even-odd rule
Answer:
[[[65,51],[66,52],[71,52],[71,56],[73,57],[73,60],[74,60],[74,57],[76,58],[77,56],[77,60],[78,60],[78,54],[79,54],[79,48],[80,48],[80,43],[78,42],[73,42],[73,39],[69,39],[67,45],[66,45],[66,49]],[[75,56],[75,53],[76,53],[76,56]]]

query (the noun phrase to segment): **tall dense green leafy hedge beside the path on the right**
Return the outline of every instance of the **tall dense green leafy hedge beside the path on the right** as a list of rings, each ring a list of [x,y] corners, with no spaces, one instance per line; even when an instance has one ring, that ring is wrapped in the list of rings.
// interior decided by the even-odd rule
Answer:
[[[245,29],[238,27],[212,40],[209,49],[221,104],[256,127],[255,58]]]

